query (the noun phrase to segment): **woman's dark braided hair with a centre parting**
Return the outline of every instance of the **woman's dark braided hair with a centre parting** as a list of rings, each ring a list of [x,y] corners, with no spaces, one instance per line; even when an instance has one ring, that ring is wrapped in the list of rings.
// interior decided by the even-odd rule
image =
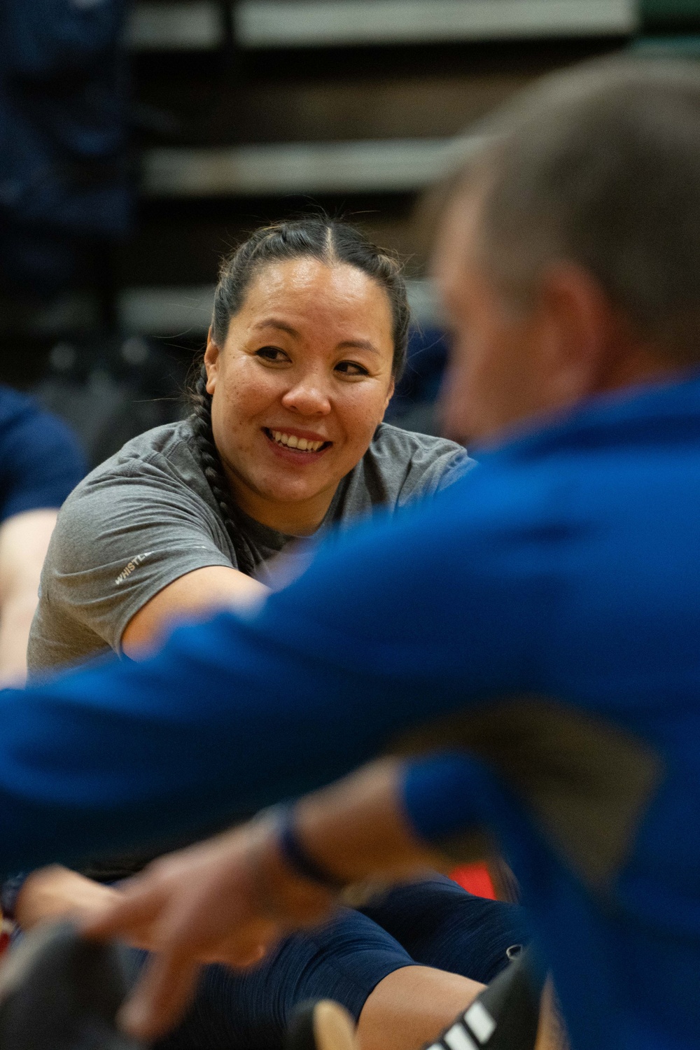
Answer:
[[[406,360],[410,314],[401,265],[373,245],[359,230],[336,219],[313,215],[295,222],[276,223],[256,230],[222,262],[214,295],[212,337],[222,348],[231,318],[243,304],[246,294],[259,271],[271,262],[315,258],[327,266],[344,264],[361,270],[386,292],[394,322],[391,373],[400,378]],[[253,553],[240,528],[240,511],[231,495],[214,442],[211,395],[207,393],[207,371],[203,363],[191,395],[192,432],[205,477],[218,504],[241,572],[255,569]]]

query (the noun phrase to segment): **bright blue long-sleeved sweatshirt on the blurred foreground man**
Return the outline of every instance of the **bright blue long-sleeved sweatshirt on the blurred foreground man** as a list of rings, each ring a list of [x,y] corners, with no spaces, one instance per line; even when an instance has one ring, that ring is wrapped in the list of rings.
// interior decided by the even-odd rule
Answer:
[[[256,615],[0,697],[5,870],[156,844],[398,747],[510,861],[575,1050],[700,1047],[700,379],[598,398],[318,551]]]

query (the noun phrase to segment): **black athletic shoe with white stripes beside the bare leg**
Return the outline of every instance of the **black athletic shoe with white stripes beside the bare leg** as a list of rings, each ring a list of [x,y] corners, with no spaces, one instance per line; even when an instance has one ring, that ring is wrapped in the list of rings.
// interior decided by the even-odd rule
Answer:
[[[533,1050],[542,983],[531,974],[529,958],[527,951],[512,957],[427,1050]]]

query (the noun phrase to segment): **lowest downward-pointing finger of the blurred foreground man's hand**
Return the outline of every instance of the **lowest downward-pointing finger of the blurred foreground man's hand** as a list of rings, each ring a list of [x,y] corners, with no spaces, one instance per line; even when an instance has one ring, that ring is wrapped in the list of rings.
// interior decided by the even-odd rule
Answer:
[[[168,952],[152,956],[133,994],[122,1007],[119,1023],[136,1038],[151,1041],[173,1027],[188,1006],[198,963]]]

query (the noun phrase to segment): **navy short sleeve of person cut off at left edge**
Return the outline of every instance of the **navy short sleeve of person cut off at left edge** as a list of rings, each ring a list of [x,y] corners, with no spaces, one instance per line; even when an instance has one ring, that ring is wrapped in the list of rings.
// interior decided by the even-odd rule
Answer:
[[[0,522],[60,507],[87,464],[62,420],[30,398],[0,391]]]

